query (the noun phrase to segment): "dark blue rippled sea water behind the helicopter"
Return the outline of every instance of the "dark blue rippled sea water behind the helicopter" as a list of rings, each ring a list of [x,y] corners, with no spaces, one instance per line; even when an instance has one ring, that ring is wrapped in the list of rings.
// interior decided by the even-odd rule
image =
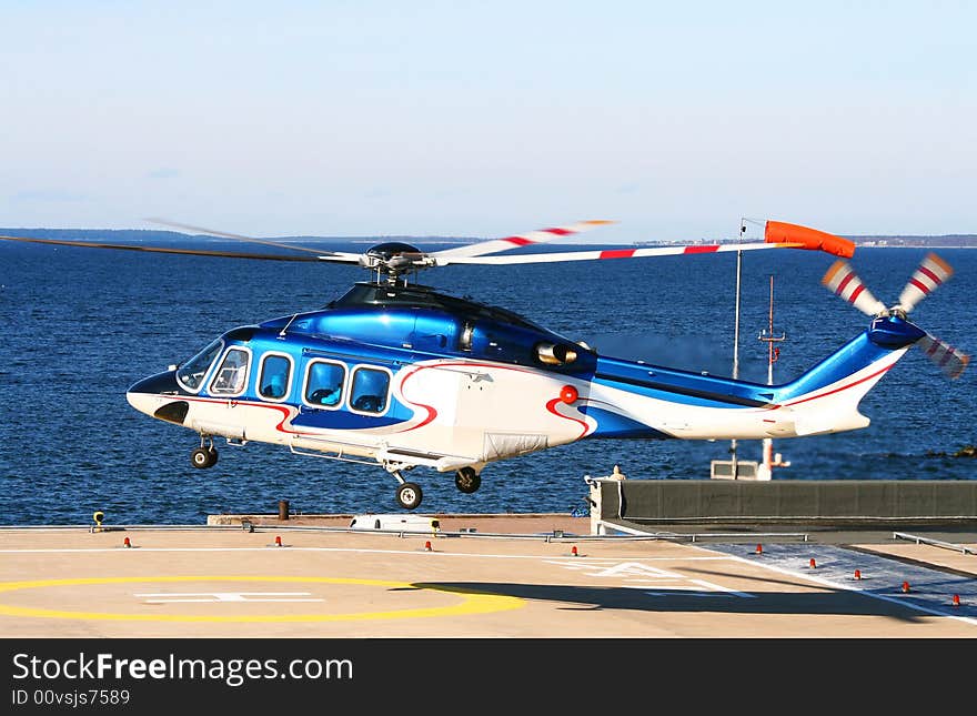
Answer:
[[[221,513],[401,512],[395,480],[379,466],[293,455],[282,446],[218,441],[210,470],[190,465],[198,436],[152,420],[127,389],[187,360],[236,325],[323,306],[355,281],[335,264],[153,254],[0,242],[0,524],[203,524]],[[240,243],[188,244],[242,251]],[[369,243],[318,243],[361,252]],[[423,243],[421,244],[423,245]],[[443,246],[440,246],[443,248]],[[580,250],[584,246],[558,246]],[[554,250],[551,246],[551,250]],[[927,249],[859,248],[850,263],[887,305]],[[936,249],[955,275],[913,312],[924,330],[977,352],[977,251]],[[869,319],[820,278],[834,256],[799,250],[742,253],[738,374],[766,383],[774,282],[774,381],[784,382],[864,331]],[[732,375],[736,254],[446,266],[422,283],[515,311],[602,354]],[[973,366],[971,366],[973,367]],[[774,480],[974,480],[975,371],[946,379],[913,349],[862,402],[866,428],[774,442],[789,467]],[[465,495],[453,474],[419,467],[420,512],[568,512],[584,477],[614,465],[634,480],[705,480],[729,441],[596,441],[490,464]],[[739,460],[762,460],[738,441]]]

